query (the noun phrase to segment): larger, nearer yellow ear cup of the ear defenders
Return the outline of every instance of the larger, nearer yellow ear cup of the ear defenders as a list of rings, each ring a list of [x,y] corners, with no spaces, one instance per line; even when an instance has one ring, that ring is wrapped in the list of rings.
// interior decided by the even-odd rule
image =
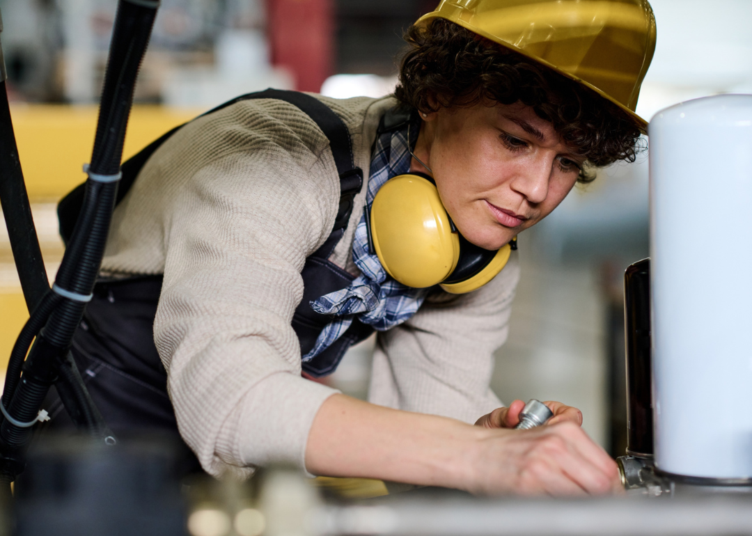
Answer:
[[[441,283],[459,259],[459,233],[436,186],[414,174],[393,177],[376,193],[371,239],[387,273],[414,288]]]

